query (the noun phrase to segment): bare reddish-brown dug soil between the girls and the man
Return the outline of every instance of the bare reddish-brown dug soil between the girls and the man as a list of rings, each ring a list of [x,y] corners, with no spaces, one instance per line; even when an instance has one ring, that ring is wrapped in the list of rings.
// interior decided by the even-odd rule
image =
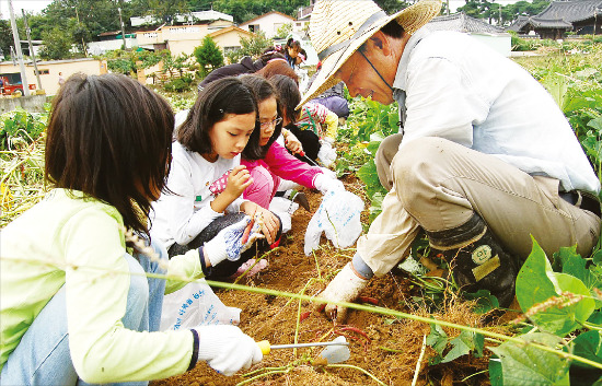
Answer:
[[[355,178],[345,178],[346,188],[358,192],[361,186]],[[312,209],[317,209],[322,196],[305,190]],[[315,295],[322,291],[338,269],[351,258],[354,248],[339,250],[324,246],[314,256],[303,253],[303,235],[313,213],[300,209],[293,214],[292,231],[287,235],[279,250],[267,258],[269,266],[257,277],[243,280],[242,283],[255,288],[267,288],[298,294]],[[364,211],[363,221],[368,213]],[[327,244],[325,237],[323,244]],[[241,282],[240,282],[241,283]],[[372,306],[371,299],[378,300],[379,306],[405,312],[418,313],[429,317],[426,309],[412,302],[412,296],[419,293],[405,274],[389,274],[373,280],[362,292],[364,305]],[[216,290],[225,305],[242,308],[241,328],[256,341],[269,340],[273,344],[311,341],[331,341],[337,334],[349,337],[351,358],[335,366],[324,366],[316,361],[321,349],[277,350],[264,356],[264,361],[251,369],[241,371],[233,377],[216,374],[205,364],[195,370],[169,379],[153,382],[153,386],[175,385],[404,385],[412,384],[420,351],[426,351],[421,361],[421,372],[417,385],[425,385],[427,379],[440,383],[441,379],[461,381],[487,369],[485,358],[475,359],[464,355],[453,363],[429,367],[429,359],[436,352],[424,344],[425,337],[430,335],[428,324],[397,319],[391,316],[369,312],[351,312],[345,326],[334,326],[323,313],[316,313],[314,305],[283,296],[273,296],[244,291]],[[482,326],[479,315],[470,311],[470,303],[458,303],[450,307],[453,311],[443,317],[449,321],[471,326]],[[451,308],[450,308],[451,309]],[[299,324],[298,324],[298,320]],[[450,329],[450,337],[458,331]],[[340,366],[339,366],[340,365]],[[349,366],[349,367],[345,367]],[[352,367],[351,367],[352,366]],[[426,369],[426,370],[425,370]],[[372,374],[377,379],[367,375]],[[248,376],[243,376],[250,374]],[[428,374],[428,375],[427,375]],[[255,377],[254,379],[252,379]],[[486,383],[486,374],[474,375],[467,384]]]

